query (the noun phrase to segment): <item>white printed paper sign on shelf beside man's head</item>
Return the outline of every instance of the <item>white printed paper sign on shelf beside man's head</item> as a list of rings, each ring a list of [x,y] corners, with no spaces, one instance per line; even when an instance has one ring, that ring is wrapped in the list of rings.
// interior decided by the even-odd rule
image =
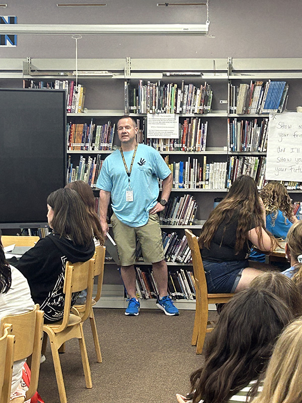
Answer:
[[[173,113],[147,114],[147,139],[178,139],[179,116]]]

